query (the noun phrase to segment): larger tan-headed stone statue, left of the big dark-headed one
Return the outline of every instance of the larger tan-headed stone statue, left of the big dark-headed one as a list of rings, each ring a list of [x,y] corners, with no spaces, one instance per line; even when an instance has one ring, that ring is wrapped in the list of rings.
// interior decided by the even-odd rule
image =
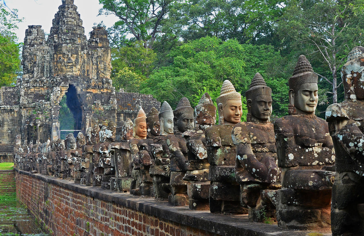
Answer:
[[[241,95],[229,80],[222,84],[220,96],[216,99],[219,124],[205,131],[207,159],[210,163],[210,211],[227,214],[244,213],[240,206],[240,185],[236,182],[235,145],[231,133],[241,121]]]

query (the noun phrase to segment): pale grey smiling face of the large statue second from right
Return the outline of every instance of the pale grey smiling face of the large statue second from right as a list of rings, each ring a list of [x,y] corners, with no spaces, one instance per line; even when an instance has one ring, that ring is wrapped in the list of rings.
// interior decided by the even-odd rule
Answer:
[[[301,84],[298,94],[294,96],[294,107],[306,113],[314,113],[318,102],[318,87],[316,83]]]

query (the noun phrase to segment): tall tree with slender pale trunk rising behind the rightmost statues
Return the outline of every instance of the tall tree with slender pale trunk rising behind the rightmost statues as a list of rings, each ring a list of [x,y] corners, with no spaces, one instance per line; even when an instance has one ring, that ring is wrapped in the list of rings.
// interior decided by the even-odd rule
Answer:
[[[331,85],[337,103],[337,73],[350,50],[363,41],[363,0],[288,0],[277,24],[283,44],[320,58],[331,78],[318,74]]]

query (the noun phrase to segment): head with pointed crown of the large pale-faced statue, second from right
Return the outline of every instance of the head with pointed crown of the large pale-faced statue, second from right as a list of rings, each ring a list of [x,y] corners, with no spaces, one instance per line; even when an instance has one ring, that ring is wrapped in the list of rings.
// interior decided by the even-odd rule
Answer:
[[[318,102],[318,76],[313,73],[310,62],[304,55],[298,58],[293,76],[289,78],[290,115],[315,114]]]

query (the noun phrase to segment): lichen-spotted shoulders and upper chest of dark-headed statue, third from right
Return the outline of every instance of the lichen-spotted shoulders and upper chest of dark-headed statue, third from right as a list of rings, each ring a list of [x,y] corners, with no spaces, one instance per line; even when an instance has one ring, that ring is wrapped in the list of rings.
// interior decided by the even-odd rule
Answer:
[[[238,123],[232,131],[232,138],[235,145],[239,143],[276,143],[272,123]]]

